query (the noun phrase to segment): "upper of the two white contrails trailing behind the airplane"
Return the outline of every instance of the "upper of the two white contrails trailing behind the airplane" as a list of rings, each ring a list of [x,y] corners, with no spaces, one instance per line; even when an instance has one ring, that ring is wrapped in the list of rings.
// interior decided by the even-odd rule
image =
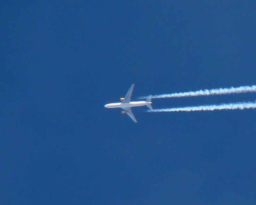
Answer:
[[[190,92],[184,92],[184,93],[152,95],[152,98],[192,97],[192,96],[204,96],[204,95],[252,93],[252,92],[256,92],[256,85],[229,87],[229,88],[216,88],[216,89],[210,89],[210,90],[205,89],[205,90],[190,91]],[[144,98],[148,98],[148,96],[139,97],[139,99],[144,99]]]

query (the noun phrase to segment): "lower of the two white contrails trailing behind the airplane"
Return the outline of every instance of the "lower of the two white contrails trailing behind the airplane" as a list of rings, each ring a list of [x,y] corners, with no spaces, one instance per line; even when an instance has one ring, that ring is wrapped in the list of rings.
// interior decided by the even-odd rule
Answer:
[[[256,102],[248,103],[229,103],[220,105],[201,105],[195,107],[183,107],[183,108],[166,108],[148,110],[147,112],[191,112],[191,111],[213,111],[213,110],[244,110],[244,109],[256,109]]]

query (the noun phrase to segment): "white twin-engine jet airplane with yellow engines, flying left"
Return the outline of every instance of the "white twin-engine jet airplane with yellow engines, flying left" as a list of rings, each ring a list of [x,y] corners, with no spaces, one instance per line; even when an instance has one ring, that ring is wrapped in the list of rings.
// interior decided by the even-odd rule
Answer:
[[[132,90],[133,90],[134,84],[130,87],[128,90],[127,94],[125,97],[121,97],[120,100],[122,101],[121,103],[109,103],[104,105],[105,108],[122,108],[123,110],[121,111],[122,114],[127,114],[134,122],[137,122],[135,119],[134,115],[132,114],[132,107],[139,107],[139,106],[144,106],[147,105],[150,110],[152,109],[151,106],[151,95],[149,95],[148,99],[146,101],[136,101],[136,102],[131,102],[131,95],[132,95]]]

